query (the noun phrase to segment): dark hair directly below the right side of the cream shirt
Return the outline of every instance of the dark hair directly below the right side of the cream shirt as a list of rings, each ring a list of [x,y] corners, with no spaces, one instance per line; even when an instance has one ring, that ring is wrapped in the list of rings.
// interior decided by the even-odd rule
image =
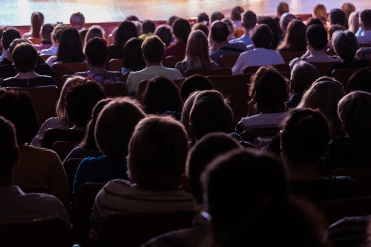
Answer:
[[[167,111],[180,112],[183,106],[177,85],[168,78],[158,76],[148,81],[143,98],[147,114],[164,114]]]

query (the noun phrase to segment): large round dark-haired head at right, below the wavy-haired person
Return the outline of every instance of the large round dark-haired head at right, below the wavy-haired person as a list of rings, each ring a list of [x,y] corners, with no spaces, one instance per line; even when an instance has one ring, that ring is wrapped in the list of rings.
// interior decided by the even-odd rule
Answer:
[[[293,165],[315,164],[326,152],[329,130],[321,113],[292,110],[281,132],[281,152]]]

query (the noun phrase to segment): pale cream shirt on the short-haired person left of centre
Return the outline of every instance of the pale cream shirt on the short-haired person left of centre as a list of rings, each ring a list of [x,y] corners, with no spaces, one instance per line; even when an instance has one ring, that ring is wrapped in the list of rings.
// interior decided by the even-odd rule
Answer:
[[[149,80],[157,75],[164,76],[169,79],[183,78],[183,75],[181,75],[177,69],[166,68],[161,65],[146,67],[141,71],[131,72],[128,75],[128,80],[126,81],[128,95],[137,95],[139,83],[142,82],[142,80]]]

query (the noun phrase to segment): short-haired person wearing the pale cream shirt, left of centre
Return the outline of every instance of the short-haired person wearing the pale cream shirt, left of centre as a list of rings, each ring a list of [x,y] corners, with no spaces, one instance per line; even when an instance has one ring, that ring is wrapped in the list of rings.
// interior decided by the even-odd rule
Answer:
[[[177,69],[163,67],[160,62],[164,57],[165,44],[159,37],[153,35],[147,37],[142,44],[142,52],[146,61],[146,68],[141,71],[133,71],[128,75],[126,89],[128,95],[137,95],[139,83],[156,75],[165,76],[169,79],[181,78]]]

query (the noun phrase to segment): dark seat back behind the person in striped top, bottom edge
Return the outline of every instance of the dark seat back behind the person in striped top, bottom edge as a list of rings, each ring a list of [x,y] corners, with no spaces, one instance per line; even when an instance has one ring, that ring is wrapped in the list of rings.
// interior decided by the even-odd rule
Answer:
[[[102,222],[102,246],[141,246],[149,239],[188,228],[194,211],[111,213]]]

